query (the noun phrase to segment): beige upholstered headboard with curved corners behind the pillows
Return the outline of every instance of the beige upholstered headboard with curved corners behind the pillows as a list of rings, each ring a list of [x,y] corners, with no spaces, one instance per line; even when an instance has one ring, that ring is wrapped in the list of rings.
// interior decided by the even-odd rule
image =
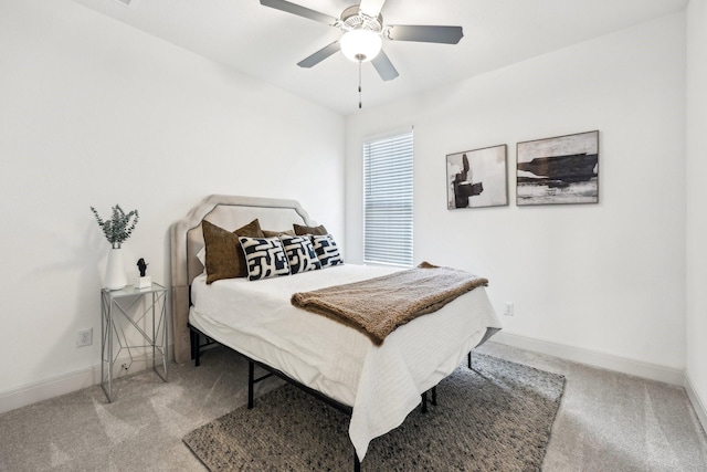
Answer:
[[[255,218],[260,220],[261,228],[271,231],[292,230],[293,223],[317,224],[295,200],[212,195],[171,225],[172,340],[177,363],[191,358],[187,326],[189,290],[191,281],[203,272],[203,265],[197,259],[197,253],[204,245],[201,221],[205,219],[232,231]]]

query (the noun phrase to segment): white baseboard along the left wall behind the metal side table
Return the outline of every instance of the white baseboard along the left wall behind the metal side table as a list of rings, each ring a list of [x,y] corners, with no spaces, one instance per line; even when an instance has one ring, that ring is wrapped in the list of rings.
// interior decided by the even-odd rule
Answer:
[[[151,358],[146,359],[143,356],[136,356],[128,370],[122,369],[120,365],[128,360],[129,358],[116,360],[113,373],[114,378],[125,377],[126,375],[152,367]],[[12,390],[0,392],[0,413],[98,384],[101,384],[101,364],[28,384]]]

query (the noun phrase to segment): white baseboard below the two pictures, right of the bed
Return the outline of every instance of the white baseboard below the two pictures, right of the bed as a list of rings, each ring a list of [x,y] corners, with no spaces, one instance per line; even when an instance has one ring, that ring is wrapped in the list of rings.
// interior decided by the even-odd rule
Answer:
[[[678,385],[680,387],[685,385],[685,373],[683,370],[672,369],[665,366],[641,363],[639,360],[612,356],[605,353],[582,349],[504,332],[495,334],[492,340],[521,349],[560,357],[579,364],[585,364],[592,367],[615,370],[636,377]]]

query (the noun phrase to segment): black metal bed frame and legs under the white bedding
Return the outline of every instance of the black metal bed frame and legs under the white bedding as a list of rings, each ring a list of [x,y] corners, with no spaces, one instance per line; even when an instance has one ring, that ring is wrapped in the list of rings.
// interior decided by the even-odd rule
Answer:
[[[205,335],[204,333],[202,333],[201,331],[197,329],[196,327],[188,325],[189,327],[189,337],[190,337],[190,342],[191,342],[191,358],[194,360],[194,366],[200,366],[201,365],[201,348],[205,347],[205,346],[210,346],[213,344],[220,344],[217,340],[210,338],[208,335]],[[200,337],[203,336],[205,339],[204,344],[201,344],[201,339]],[[225,345],[222,345],[225,346]],[[252,409],[255,406],[255,399],[254,399],[254,389],[255,389],[255,384],[265,380],[272,376],[276,376],[282,378],[283,380],[287,381],[288,384],[299,388],[300,390],[312,395],[313,397],[324,401],[325,403],[329,405],[333,408],[336,408],[337,410],[346,413],[346,415],[351,415],[351,412],[354,411],[352,407],[349,407],[348,405],[344,405],[340,401],[337,401],[324,394],[321,394],[318,390],[313,389],[312,387],[307,387],[306,385],[293,379],[292,377],[287,376],[285,373],[283,373],[282,370],[278,370],[272,366],[268,366],[267,364],[263,364],[261,361],[254,360],[252,358],[250,358],[249,356],[244,355],[243,353],[240,353],[239,350],[230,347],[230,346],[225,346],[226,348],[233,350],[234,353],[239,354],[240,356],[243,356],[245,359],[247,359],[247,408]],[[468,355],[467,355],[467,365],[468,368],[472,368],[472,352],[469,350]],[[255,366],[258,366],[260,368],[262,368],[263,370],[267,371],[267,374],[261,376],[261,377],[255,377]],[[424,394],[422,394],[422,407],[421,407],[421,411],[423,413],[428,412],[428,392],[431,392],[431,400],[430,402],[435,406],[437,405],[437,388],[436,386],[432,387],[430,390],[425,391]],[[356,450],[354,450],[354,471],[355,472],[360,472],[361,470],[361,461],[358,459],[358,454],[356,453]]]

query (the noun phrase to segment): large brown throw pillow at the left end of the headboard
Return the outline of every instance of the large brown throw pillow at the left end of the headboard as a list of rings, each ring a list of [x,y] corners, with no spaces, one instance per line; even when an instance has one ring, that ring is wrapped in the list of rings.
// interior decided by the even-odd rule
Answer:
[[[247,276],[247,265],[239,237],[264,238],[260,221],[255,219],[231,232],[203,220],[201,230],[207,248],[207,284],[221,279]]]

